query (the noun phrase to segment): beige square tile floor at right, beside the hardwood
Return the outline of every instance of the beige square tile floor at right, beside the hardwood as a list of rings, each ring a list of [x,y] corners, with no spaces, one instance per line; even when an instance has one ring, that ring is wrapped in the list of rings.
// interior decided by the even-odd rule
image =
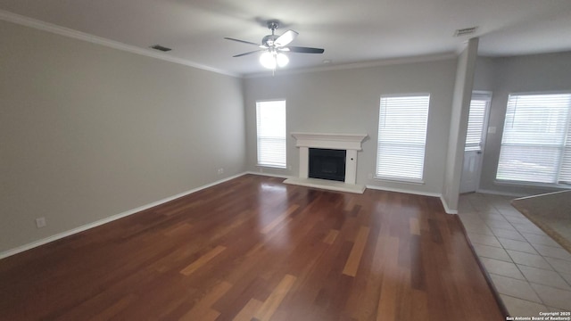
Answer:
[[[571,311],[571,254],[510,205],[512,197],[460,196],[459,217],[511,317]]]

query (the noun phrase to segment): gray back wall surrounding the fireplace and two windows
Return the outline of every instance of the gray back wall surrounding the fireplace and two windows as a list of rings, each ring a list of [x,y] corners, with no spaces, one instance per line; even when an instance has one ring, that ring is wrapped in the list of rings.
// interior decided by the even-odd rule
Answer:
[[[299,151],[291,132],[368,134],[358,154],[357,183],[412,193],[440,195],[456,73],[456,59],[414,62],[353,70],[327,70],[244,80],[247,169],[298,176]],[[381,95],[430,93],[426,137],[425,184],[402,184],[368,178],[377,160],[378,109]],[[287,103],[287,164],[290,169],[256,166],[255,102],[284,98]]]

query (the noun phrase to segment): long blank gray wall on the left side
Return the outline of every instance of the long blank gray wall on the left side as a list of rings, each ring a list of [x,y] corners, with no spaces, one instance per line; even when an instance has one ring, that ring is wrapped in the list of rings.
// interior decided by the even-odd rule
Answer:
[[[0,38],[0,253],[244,172],[242,79],[4,21]]]

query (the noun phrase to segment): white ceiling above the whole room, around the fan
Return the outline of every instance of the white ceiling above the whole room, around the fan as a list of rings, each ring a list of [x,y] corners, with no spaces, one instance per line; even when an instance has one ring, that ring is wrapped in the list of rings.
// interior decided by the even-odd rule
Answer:
[[[479,54],[506,56],[571,50],[570,0],[0,0],[0,10],[97,37],[164,53],[236,75],[263,71],[253,45],[269,34],[265,22],[294,29],[291,45],[323,54],[288,53],[287,69],[457,52],[477,26]],[[151,50],[151,49],[149,49]]]

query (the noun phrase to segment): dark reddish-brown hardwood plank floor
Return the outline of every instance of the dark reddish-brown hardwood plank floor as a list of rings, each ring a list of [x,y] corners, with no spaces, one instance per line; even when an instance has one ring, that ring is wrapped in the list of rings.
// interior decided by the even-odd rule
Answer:
[[[0,260],[3,320],[503,320],[437,198],[246,175]]]

